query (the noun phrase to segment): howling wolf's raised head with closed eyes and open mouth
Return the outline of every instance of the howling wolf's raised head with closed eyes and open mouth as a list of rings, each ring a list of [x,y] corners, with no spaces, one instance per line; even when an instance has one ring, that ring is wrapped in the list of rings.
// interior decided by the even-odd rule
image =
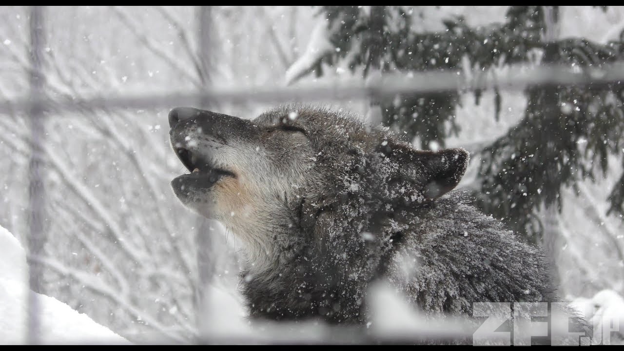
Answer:
[[[426,205],[456,187],[469,159],[463,149],[417,151],[353,114],[310,106],[251,120],[178,107],[169,124],[190,171],[171,182],[178,199],[230,228],[256,264],[300,244],[329,207],[384,218]]]

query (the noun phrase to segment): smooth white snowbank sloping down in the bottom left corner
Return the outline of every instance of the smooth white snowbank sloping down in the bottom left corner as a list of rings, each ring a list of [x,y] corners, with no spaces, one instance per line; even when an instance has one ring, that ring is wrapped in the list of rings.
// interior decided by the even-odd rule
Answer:
[[[40,307],[42,344],[129,344],[68,305],[28,289],[26,254],[19,241],[0,227],[0,344],[26,344],[27,301]]]

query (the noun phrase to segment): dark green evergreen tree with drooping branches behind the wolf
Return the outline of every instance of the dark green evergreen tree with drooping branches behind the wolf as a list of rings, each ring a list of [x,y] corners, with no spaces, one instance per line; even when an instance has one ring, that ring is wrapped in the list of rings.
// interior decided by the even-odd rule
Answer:
[[[583,38],[548,37],[556,25],[558,7],[510,6],[507,22],[469,27],[463,17],[445,20],[444,32],[415,32],[420,18],[407,6],[324,6],[328,41],[335,49],[316,57],[311,71],[323,74],[322,64],[345,61],[352,72],[366,77],[371,69],[388,72],[459,70],[462,57],[487,70],[496,64],[529,62],[529,54],[542,51],[542,62],[580,69],[622,59],[624,44],[606,45]],[[527,109],[522,121],[480,151],[481,189],[475,193],[482,208],[510,227],[539,242],[542,225],[537,210],[552,205],[561,209],[563,187],[578,180],[595,179],[606,171],[608,155],[618,154],[624,164],[624,84],[600,86],[527,87]],[[496,119],[500,94],[494,88]],[[474,96],[479,103],[481,91]],[[423,149],[431,142],[444,146],[459,132],[454,114],[459,92],[398,96],[379,101],[383,122],[409,139],[417,137]],[[608,197],[610,212],[624,214],[624,175]]]

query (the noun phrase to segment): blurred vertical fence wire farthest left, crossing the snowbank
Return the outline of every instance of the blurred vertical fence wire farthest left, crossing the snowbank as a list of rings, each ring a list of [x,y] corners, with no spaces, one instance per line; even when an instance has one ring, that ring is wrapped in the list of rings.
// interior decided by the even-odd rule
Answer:
[[[46,244],[44,233],[44,198],[45,189],[43,183],[42,145],[45,137],[43,119],[43,106],[39,99],[44,93],[44,76],[42,74],[42,59],[44,50],[44,11],[41,6],[32,6],[30,12],[30,61],[31,71],[29,74],[31,108],[29,117],[31,121],[32,149],[29,160],[29,232],[27,245],[29,257],[40,257]],[[27,291],[27,343],[39,344],[41,340],[40,306],[37,295],[33,292],[42,292],[42,267],[39,264],[29,265],[29,288]]]

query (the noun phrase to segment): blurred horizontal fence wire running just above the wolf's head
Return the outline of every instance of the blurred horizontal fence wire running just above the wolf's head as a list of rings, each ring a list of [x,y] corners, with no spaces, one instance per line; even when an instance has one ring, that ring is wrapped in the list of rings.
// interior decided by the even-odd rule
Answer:
[[[275,86],[211,87],[203,91],[162,92],[155,94],[124,94],[119,96],[92,96],[52,98],[33,96],[0,102],[0,113],[24,112],[34,102],[46,106],[47,111],[81,111],[115,108],[165,108],[195,106],[198,101],[220,102],[291,102],[331,101],[353,99],[380,99],[402,94],[427,94],[440,91],[472,91],[475,89],[522,90],[527,86],[592,86],[602,87],[624,81],[624,62],[602,66],[521,66],[512,65],[496,74],[489,71],[426,71],[385,74],[368,79],[346,78],[332,82],[310,82],[301,87],[277,84]],[[475,79],[474,77],[479,77]]]

